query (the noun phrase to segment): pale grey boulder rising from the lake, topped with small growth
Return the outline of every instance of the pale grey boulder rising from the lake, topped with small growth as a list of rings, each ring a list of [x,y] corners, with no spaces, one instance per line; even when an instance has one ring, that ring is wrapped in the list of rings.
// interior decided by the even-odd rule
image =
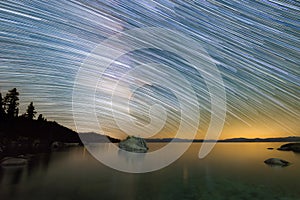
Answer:
[[[143,138],[135,136],[128,136],[119,143],[119,147],[120,149],[136,153],[146,153],[149,149]]]

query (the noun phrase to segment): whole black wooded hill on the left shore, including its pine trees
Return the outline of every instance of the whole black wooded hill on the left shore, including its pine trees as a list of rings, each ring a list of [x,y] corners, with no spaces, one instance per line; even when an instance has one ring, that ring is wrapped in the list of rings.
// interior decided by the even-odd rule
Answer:
[[[0,153],[28,149],[55,148],[63,143],[80,143],[78,134],[42,114],[36,118],[33,102],[19,114],[19,92],[13,88],[5,97],[0,93]]]

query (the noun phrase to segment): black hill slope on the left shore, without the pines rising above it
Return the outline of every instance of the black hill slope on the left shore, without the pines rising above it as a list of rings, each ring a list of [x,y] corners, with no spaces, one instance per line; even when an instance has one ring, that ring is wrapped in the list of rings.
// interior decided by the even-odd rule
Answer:
[[[40,153],[66,147],[70,143],[82,144],[75,131],[53,121],[19,117],[0,124],[2,156]]]

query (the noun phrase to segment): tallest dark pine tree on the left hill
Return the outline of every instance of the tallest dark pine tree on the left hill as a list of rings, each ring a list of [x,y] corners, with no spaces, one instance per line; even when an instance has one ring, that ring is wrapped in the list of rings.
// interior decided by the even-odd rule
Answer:
[[[6,96],[4,97],[4,105],[7,113],[7,117],[9,119],[13,119],[18,116],[19,114],[19,92],[17,92],[17,89],[11,89],[8,91]]]

